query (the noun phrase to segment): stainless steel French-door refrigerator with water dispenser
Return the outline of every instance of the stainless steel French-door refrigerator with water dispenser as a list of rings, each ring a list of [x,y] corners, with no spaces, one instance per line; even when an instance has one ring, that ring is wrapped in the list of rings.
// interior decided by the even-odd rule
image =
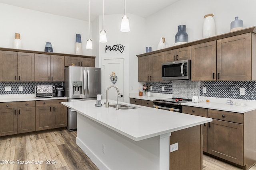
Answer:
[[[100,94],[100,68],[69,66],[65,68],[65,96],[68,101],[96,100]],[[69,131],[77,129],[76,111],[68,108]]]

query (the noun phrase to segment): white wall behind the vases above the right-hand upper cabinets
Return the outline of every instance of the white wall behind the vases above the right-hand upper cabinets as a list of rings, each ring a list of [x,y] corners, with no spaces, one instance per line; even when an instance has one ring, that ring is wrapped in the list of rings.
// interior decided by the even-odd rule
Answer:
[[[178,25],[186,25],[188,41],[202,39],[204,15],[214,14],[216,35],[230,32],[230,22],[236,16],[244,28],[256,25],[255,0],[180,0],[164,10],[146,18],[146,46],[157,49],[160,37],[168,47],[174,46]]]

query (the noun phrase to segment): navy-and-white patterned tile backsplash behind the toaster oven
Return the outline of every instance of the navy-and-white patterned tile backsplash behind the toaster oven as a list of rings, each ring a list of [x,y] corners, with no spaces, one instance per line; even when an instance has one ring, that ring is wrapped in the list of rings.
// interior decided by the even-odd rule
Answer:
[[[0,82],[0,94],[33,94],[37,85],[62,86],[62,82]],[[10,86],[11,91],[5,91],[6,86]]]

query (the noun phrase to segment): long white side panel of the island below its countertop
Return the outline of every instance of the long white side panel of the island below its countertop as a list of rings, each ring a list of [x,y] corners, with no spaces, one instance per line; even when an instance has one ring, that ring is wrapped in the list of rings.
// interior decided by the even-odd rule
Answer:
[[[159,169],[159,136],[134,141],[84,115],[77,121],[76,143],[100,170]]]

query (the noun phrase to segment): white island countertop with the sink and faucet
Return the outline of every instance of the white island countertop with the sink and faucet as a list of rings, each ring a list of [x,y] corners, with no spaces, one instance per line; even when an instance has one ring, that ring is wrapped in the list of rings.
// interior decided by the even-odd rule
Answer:
[[[102,100],[103,102],[105,100]],[[109,102],[116,103],[116,101],[112,100]],[[212,121],[211,118],[127,103],[122,104],[139,108],[116,110],[114,107],[106,108],[104,105],[96,107],[96,100],[62,102],[62,104],[134,141],[148,139]]]

